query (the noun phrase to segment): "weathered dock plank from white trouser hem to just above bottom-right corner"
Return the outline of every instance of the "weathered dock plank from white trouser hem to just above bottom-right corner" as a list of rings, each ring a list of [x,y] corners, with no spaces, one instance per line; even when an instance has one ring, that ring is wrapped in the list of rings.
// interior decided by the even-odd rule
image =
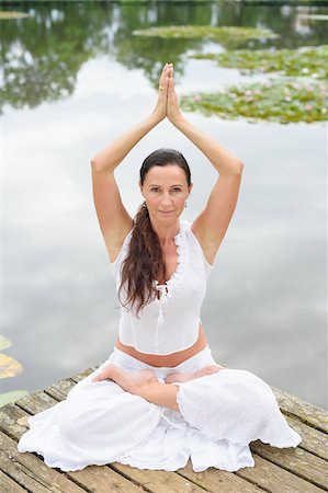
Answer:
[[[281,466],[318,488],[328,490],[328,467],[326,460],[320,457],[304,450],[299,446],[296,448],[278,448],[264,445],[261,440],[252,442],[250,448],[262,458]]]

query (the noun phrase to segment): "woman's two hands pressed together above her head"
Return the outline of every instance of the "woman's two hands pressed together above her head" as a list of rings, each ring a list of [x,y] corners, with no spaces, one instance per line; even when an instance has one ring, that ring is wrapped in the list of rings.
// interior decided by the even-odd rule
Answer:
[[[162,69],[158,85],[158,100],[152,113],[159,122],[168,117],[171,123],[176,123],[182,116],[174,89],[173,64],[166,64]]]

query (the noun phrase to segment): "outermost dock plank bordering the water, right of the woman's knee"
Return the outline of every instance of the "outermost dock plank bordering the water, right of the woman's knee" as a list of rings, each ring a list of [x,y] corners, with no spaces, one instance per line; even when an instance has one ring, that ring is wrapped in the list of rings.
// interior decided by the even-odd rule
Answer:
[[[309,402],[303,401],[298,397],[278,389],[276,387],[270,387],[276,398],[279,406],[285,414],[293,414],[304,423],[307,423],[324,433],[328,433],[327,411],[310,404]]]

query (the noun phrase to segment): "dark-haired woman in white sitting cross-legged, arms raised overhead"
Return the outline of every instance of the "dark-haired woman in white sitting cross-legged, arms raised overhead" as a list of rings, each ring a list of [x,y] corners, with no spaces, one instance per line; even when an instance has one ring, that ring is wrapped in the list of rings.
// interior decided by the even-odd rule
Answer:
[[[183,156],[159,149],[140,169],[144,204],[133,220],[115,168],[166,117],[218,172],[204,210],[180,221],[192,190]],[[236,207],[242,163],[181,114],[166,64],[148,118],[92,160],[93,196],[121,301],[113,353],[67,399],[31,416],[19,451],[36,451],[64,471],[114,461],[174,471],[255,466],[249,443],[296,447],[301,436],[269,385],[218,365],[200,310],[206,279]]]

